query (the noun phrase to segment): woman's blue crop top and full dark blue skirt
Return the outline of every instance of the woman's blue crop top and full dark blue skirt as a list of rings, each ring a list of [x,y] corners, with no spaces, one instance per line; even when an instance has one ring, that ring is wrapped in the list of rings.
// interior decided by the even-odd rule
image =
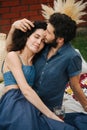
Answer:
[[[22,65],[25,78],[33,86],[34,66]],[[3,74],[5,87],[17,84],[10,71]],[[0,130],[76,130],[66,123],[43,115],[24,97],[20,89],[11,89],[0,99]]]

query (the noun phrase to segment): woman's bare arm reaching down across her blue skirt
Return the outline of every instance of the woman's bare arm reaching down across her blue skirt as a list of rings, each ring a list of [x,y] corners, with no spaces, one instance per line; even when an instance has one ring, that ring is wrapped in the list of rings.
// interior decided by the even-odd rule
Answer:
[[[15,59],[15,60],[14,60]],[[46,105],[41,101],[36,92],[28,85],[21,69],[20,60],[15,52],[10,52],[7,55],[6,63],[8,68],[13,73],[20,90],[25,98],[31,102],[37,109],[39,109],[44,115],[49,118],[62,121],[52,111],[50,111]]]

